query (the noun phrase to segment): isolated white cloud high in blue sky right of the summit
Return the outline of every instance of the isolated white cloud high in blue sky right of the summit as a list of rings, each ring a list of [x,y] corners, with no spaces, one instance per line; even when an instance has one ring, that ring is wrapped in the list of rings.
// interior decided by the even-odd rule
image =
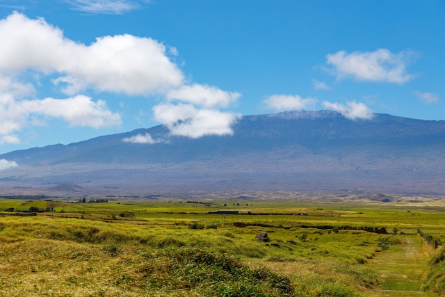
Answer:
[[[337,79],[353,77],[359,81],[385,81],[405,83],[413,78],[406,72],[410,53],[401,51],[392,54],[388,49],[376,51],[337,51],[326,56],[327,64],[332,65],[332,73]]]

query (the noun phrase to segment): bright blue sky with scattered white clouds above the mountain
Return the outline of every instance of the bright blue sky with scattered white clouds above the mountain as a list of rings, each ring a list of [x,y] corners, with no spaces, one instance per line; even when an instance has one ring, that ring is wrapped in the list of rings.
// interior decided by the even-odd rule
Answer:
[[[445,120],[444,16],[433,0],[0,0],[0,154],[160,124],[230,135],[289,110]]]

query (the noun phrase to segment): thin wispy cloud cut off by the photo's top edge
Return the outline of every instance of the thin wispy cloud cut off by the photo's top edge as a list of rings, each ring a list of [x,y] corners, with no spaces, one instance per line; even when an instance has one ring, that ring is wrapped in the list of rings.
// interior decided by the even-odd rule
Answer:
[[[131,10],[139,9],[140,3],[129,0],[65,0],[74,9],[86,13],[120,15]],[[148,2],[148,1],[143,1]]]

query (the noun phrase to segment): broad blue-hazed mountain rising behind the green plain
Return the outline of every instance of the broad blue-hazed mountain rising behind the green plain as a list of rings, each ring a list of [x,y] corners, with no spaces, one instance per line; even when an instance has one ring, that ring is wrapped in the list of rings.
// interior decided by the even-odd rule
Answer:
[[[0,187],[445,194],[445,121],[334,111],[243,116],[231,136],[162,125],[0,155]],[[152,143],[131,143],[135,136]],[[127,140],[127,141],[124,141]]]

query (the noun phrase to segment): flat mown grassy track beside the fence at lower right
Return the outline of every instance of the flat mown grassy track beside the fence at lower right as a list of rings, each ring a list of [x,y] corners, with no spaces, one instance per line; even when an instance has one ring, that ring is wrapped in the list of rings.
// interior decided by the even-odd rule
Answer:
[[[417,236],[398,236],[401,244],[391,245],[380,252],[369,264],[381,285],[377,296],[437,296],[421,291],[428,259],[423,255]]]

